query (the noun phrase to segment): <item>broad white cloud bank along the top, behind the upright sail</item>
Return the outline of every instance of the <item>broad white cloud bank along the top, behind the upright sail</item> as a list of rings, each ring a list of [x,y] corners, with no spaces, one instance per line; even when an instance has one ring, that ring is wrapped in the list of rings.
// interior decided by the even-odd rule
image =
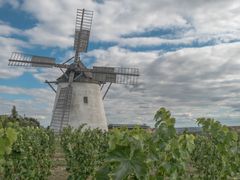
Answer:
[[[73,45],[75,14],[77,8],[94,11],[92,41],[118,42],[131,46],[156,45],[161,43],[190,43],[191,40],[213,39],[218,42],[239,39],[240,10],[238,0],[179,3],[176,0],[141,2],[123,1],[65,1],[52,0],[13,1],[36,19],[33,28],[23,35],[32,44],[46,47],[67,48]],[[38,8],[35,8],[38,7]],[[124,35],[149,32],[154,29],[180,31],[178,39],[124,38]],[[152,44],[151,44],[152,42]]]

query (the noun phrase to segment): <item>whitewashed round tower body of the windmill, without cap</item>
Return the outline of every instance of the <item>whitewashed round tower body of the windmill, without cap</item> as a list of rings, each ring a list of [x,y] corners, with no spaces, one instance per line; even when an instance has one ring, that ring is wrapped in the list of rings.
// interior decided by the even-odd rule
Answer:
[[[55,132],[66,126],[108,130],[100,85],[88,82],[59,83],[50,128]]]

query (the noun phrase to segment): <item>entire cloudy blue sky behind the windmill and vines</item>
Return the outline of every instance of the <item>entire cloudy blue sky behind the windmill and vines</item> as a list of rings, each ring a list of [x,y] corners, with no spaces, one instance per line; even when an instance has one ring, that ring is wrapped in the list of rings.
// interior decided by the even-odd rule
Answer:
[[[55,94],[44,83],[59,69],[8,66],[11,52],[74,55],[77,8],[94,11],[88,66],[139,68],[138,85],[114,84],[105,100],[108,123],[154,125],[160,107],[177,127],[196,118],[240,125],[239,0],[0,0],[0,114],[50,124]]]

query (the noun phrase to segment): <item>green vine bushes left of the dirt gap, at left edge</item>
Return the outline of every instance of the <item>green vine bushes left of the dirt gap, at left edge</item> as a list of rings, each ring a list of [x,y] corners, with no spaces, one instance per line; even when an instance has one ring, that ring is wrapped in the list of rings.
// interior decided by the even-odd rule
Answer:
[[[50,175],[51,156],[54,152],[53,132],[34,127],[19,127],[6,123],[0,131],[5,132],[0,178],[47,179]],[[4,151],[2,151],[4,150]]]

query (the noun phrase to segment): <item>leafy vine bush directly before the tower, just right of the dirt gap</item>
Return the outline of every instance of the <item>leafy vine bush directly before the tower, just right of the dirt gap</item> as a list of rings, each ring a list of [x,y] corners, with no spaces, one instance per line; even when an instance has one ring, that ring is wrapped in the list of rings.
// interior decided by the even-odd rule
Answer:
[[[68,179],[87,179],[93,176],[105,158],[107,133],[91,130],[85,125],[78,129],[65,128],[61,134],[61,146],[67,161]]]

